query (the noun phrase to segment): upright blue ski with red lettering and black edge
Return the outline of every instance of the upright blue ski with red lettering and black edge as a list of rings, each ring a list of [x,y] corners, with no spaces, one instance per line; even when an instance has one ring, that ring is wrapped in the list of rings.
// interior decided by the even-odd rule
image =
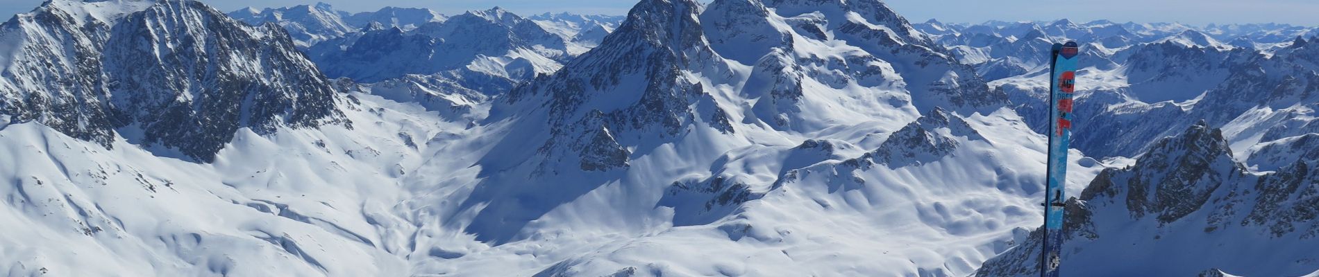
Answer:
[[[1067,184],[1067,148],[1071,142],[1072,92],[1076,89],[1076,42],[1054,43],[1050,72],[1049,172],[1045,189],[1045,243],[1039,276],[1058,277],[1063,245],[1063,185]]]

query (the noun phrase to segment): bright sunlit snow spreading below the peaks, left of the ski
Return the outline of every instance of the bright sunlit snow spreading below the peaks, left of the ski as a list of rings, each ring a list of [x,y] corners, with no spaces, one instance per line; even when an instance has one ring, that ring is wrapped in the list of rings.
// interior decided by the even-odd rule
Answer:
[[[798,181],[765,188],[735,217],[674,227],[673,210],[653,206],[663,184],[611,181],[533,221],[524,240],[491,247],[462,234],[471,214],[451,213],[479,182],[479,168],[468,167],[487,138],[506,130],[464,129],[415,104],[356,96],[355,130],[240,133],[214,164],[157,158],[123,140],[106,150],[34,123],[5,126],[0,158],[15,167],[0,173],[15,185],[0,188],[9,205],[0,222],[22,227],[0,234],[3,256],[13,259],[0,272],[517,276],[586,261],[563,272],[963,274],[1009,247],[1016,227],[1041,221],[1045,138],[1000,110],[969,119],[985,140],[923,165],[860,171],[864,184],[830,173],[843,160],[816,158],[798,164]],[[781,164],[801,161],[786,160],[793,147],[743,146],[727,158],[740,165],[723,173],[770,182],[789,169]],[[673,151],[636,160],[629,179],[677,179],[665,171],[700,167]],[[1101,168],[1082,164],[1072,164],[1072,190]]]

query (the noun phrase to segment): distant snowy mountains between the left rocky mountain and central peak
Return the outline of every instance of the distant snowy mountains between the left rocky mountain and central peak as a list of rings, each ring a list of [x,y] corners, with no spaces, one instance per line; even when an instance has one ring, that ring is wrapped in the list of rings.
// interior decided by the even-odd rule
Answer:
[[[249,24],[276,22],[289,32],[326,28],[317,18],[285,16],[286,11],[311,9],[331,14],[347,32],[311,32],[323,38],[301,47],[331,77],[346,77],[353,88],[376,87],[388,98],[415,98],[450,118],[468,118],[466,112],[501,95],[537,74],[558,70],[574,55],[595,47],[617,28],[623,17],[539,14],[529,20],[501,8],[472,11],[450,20],[430,9],[386,7],[377,12],[350,14],[328,4],[276,8],[262,12],[236,11]],[[503,35],[493,35],[503,34]],[[550,34],[558,34],[554,37]],[[401,97],[401,98],[400,98]]]

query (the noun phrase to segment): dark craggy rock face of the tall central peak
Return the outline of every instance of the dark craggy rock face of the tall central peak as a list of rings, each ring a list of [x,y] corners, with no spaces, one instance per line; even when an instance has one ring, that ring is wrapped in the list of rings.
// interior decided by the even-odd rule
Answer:
[[[698,80],[685,75],[685,70],[716,62],[702,39],[696,12],[699,5],[692,3],[644,1],[600,47],[574,59],[563,71],[516,88],[506,101],[537,105],[545,98],[547,123],[563,127],[551,130],[554,138],[541,148],[542,154],[580,154],[582,168],[588,171],[625,167],[627,151],[617,143],[619,134],[671,139],[695,122],[731,133],[724,112]],[[629,92],[637,93],[634,102],[591,101],[624,87],[640,88],[640,93]],[[561,152],[565,143],[570,147]]]

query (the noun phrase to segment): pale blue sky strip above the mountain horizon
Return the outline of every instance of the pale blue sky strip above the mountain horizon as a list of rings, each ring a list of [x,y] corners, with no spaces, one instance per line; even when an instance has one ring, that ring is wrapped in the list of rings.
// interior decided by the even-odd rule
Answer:
[[[310,4],[315,0],[203,0],[226,12],[243,7],[284,7]],[[516,13],[575,12],[624,14],[630,0],[322,0],[350,12],[375,11],[381,7],[422,7],[443,13],[504,7]],[[26,12],[42,0],[0,0],[0,14]],[[1319,1],[1315,0],[888,0],[893,9],[913,21],[938,18],[947,22],[983,22],[987,20],[1112,20],[1136,22],[1283,22],[1319,25]],[[1063,4],[1064,3],[1064,4]]]

